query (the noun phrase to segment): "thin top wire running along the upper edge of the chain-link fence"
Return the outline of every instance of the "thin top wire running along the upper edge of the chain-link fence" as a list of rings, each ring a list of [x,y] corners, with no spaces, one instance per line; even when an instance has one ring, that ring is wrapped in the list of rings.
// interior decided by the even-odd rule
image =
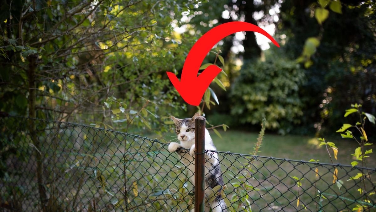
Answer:
[[[37,120],[37,121],[54,122],[54,123],[61,123],[61,124],[67,124],[67,125],[81,126],[81,127],[85,127],[85,128],[98,129],[98,130],[101,130],[101,131],[113,132],[113,133],[116,133],[116,134],[121,134],[121,135],[126,135],[126,136],[138,137],[138,138],[141,138],[141,139],[145,139],[145,140],[157,142],[157,143],[162,144],[164,146],[168,146],[168,144],[169,144],[169,143],[163,143],[163,142],[159,141],[156,138],[155,139],[151,139],[151,138],[143,137],[143,136],[140,136],[140,135],[130,134],[130,133],[127,133],[127,132],[120,132],[120,131],[115,131],[115,130],[105,129],[105,128],[97,128],[97,127],[89,126],[89,125],[86,125],[86,124],[77,124],[77,123],[64,122],[64,121],[56,121],[56,120],[45,120],[45,119],[41,119],[41,118],[30,118],[30,117],[24,117],[24,116],[20,116],[20,115],[8,115],[6,117],[15,117],[15,118]],[[183,147],[179,147],[179,149],[182,149],[182,150],[185,150],[185,151],[189,150],[189,149],[185,149]],[[241,153],[235,153],[235,152],[230,152],[230,151],[227,151],[227,152],[214,151],[214,150],[209,150],[209,149],[205,150],[205,152],[212,152],[212,153],[216,152],[217,154],[225,154],[225,155],[238,155],[238,157],[242,157],[242,158],[253,157],[254,159],[264,158],[264,159],[277,160],[277,161],[287,161],[287,162],[296,162],[296,163],[315,164],[315,165],[318,165],[318,166],[350,167],[352,169],[365,169],[365,170],[375,171],[376,172],[376,167],[369,168],[369,167],[361,167],[361,166],[351,166],[351,165],[340,164],[340,163],[332,164],[332,163],[320,163],[320,162],[312,162],[312,161],[310,162],[310,161],[293,160],[293,159],[287,159],[287,158],[276,158],[276,157],[271,157],[271,156],[241,154]],[[203,153],[205,153],[205,152],[203,152]]]

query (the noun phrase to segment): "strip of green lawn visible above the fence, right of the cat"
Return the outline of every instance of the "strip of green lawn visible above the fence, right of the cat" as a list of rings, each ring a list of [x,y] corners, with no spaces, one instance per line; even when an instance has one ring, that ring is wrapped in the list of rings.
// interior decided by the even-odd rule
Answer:
[[[218,151],[230,151],[242,154],[252,154],[253,146],[258,137],[258,133],[255,132],[234,130],[227,130],[226,132],[220,131],[222,138],[218,137],[212,130],[209,130],[209,133]],[[333,151],[329,149],[334,163],[350,164],[355,160],[355,157],[350,154],[354,154],[358,143],[348,138],[340,138],[340,136],[334,139],[327,138],[327,140],[334,142],[338,147],[338,160],[334,159]],[[318,147],[319,143],[320,141],[315,137],[299,135],[282,136],[268,134],[268,132],[266,132],[260,148],[261,152],[259,152],[258,155],[304,161],[320,159],[322,163],[331,163],[325,146]],[[370,141],[370,143],[374,142]],[[367,149],[372,149],[372,146],[368,147]],[[367,158],[367,166],[376,167],[375,157],[372,154],[370,154],[370,156],[371,157]]]

